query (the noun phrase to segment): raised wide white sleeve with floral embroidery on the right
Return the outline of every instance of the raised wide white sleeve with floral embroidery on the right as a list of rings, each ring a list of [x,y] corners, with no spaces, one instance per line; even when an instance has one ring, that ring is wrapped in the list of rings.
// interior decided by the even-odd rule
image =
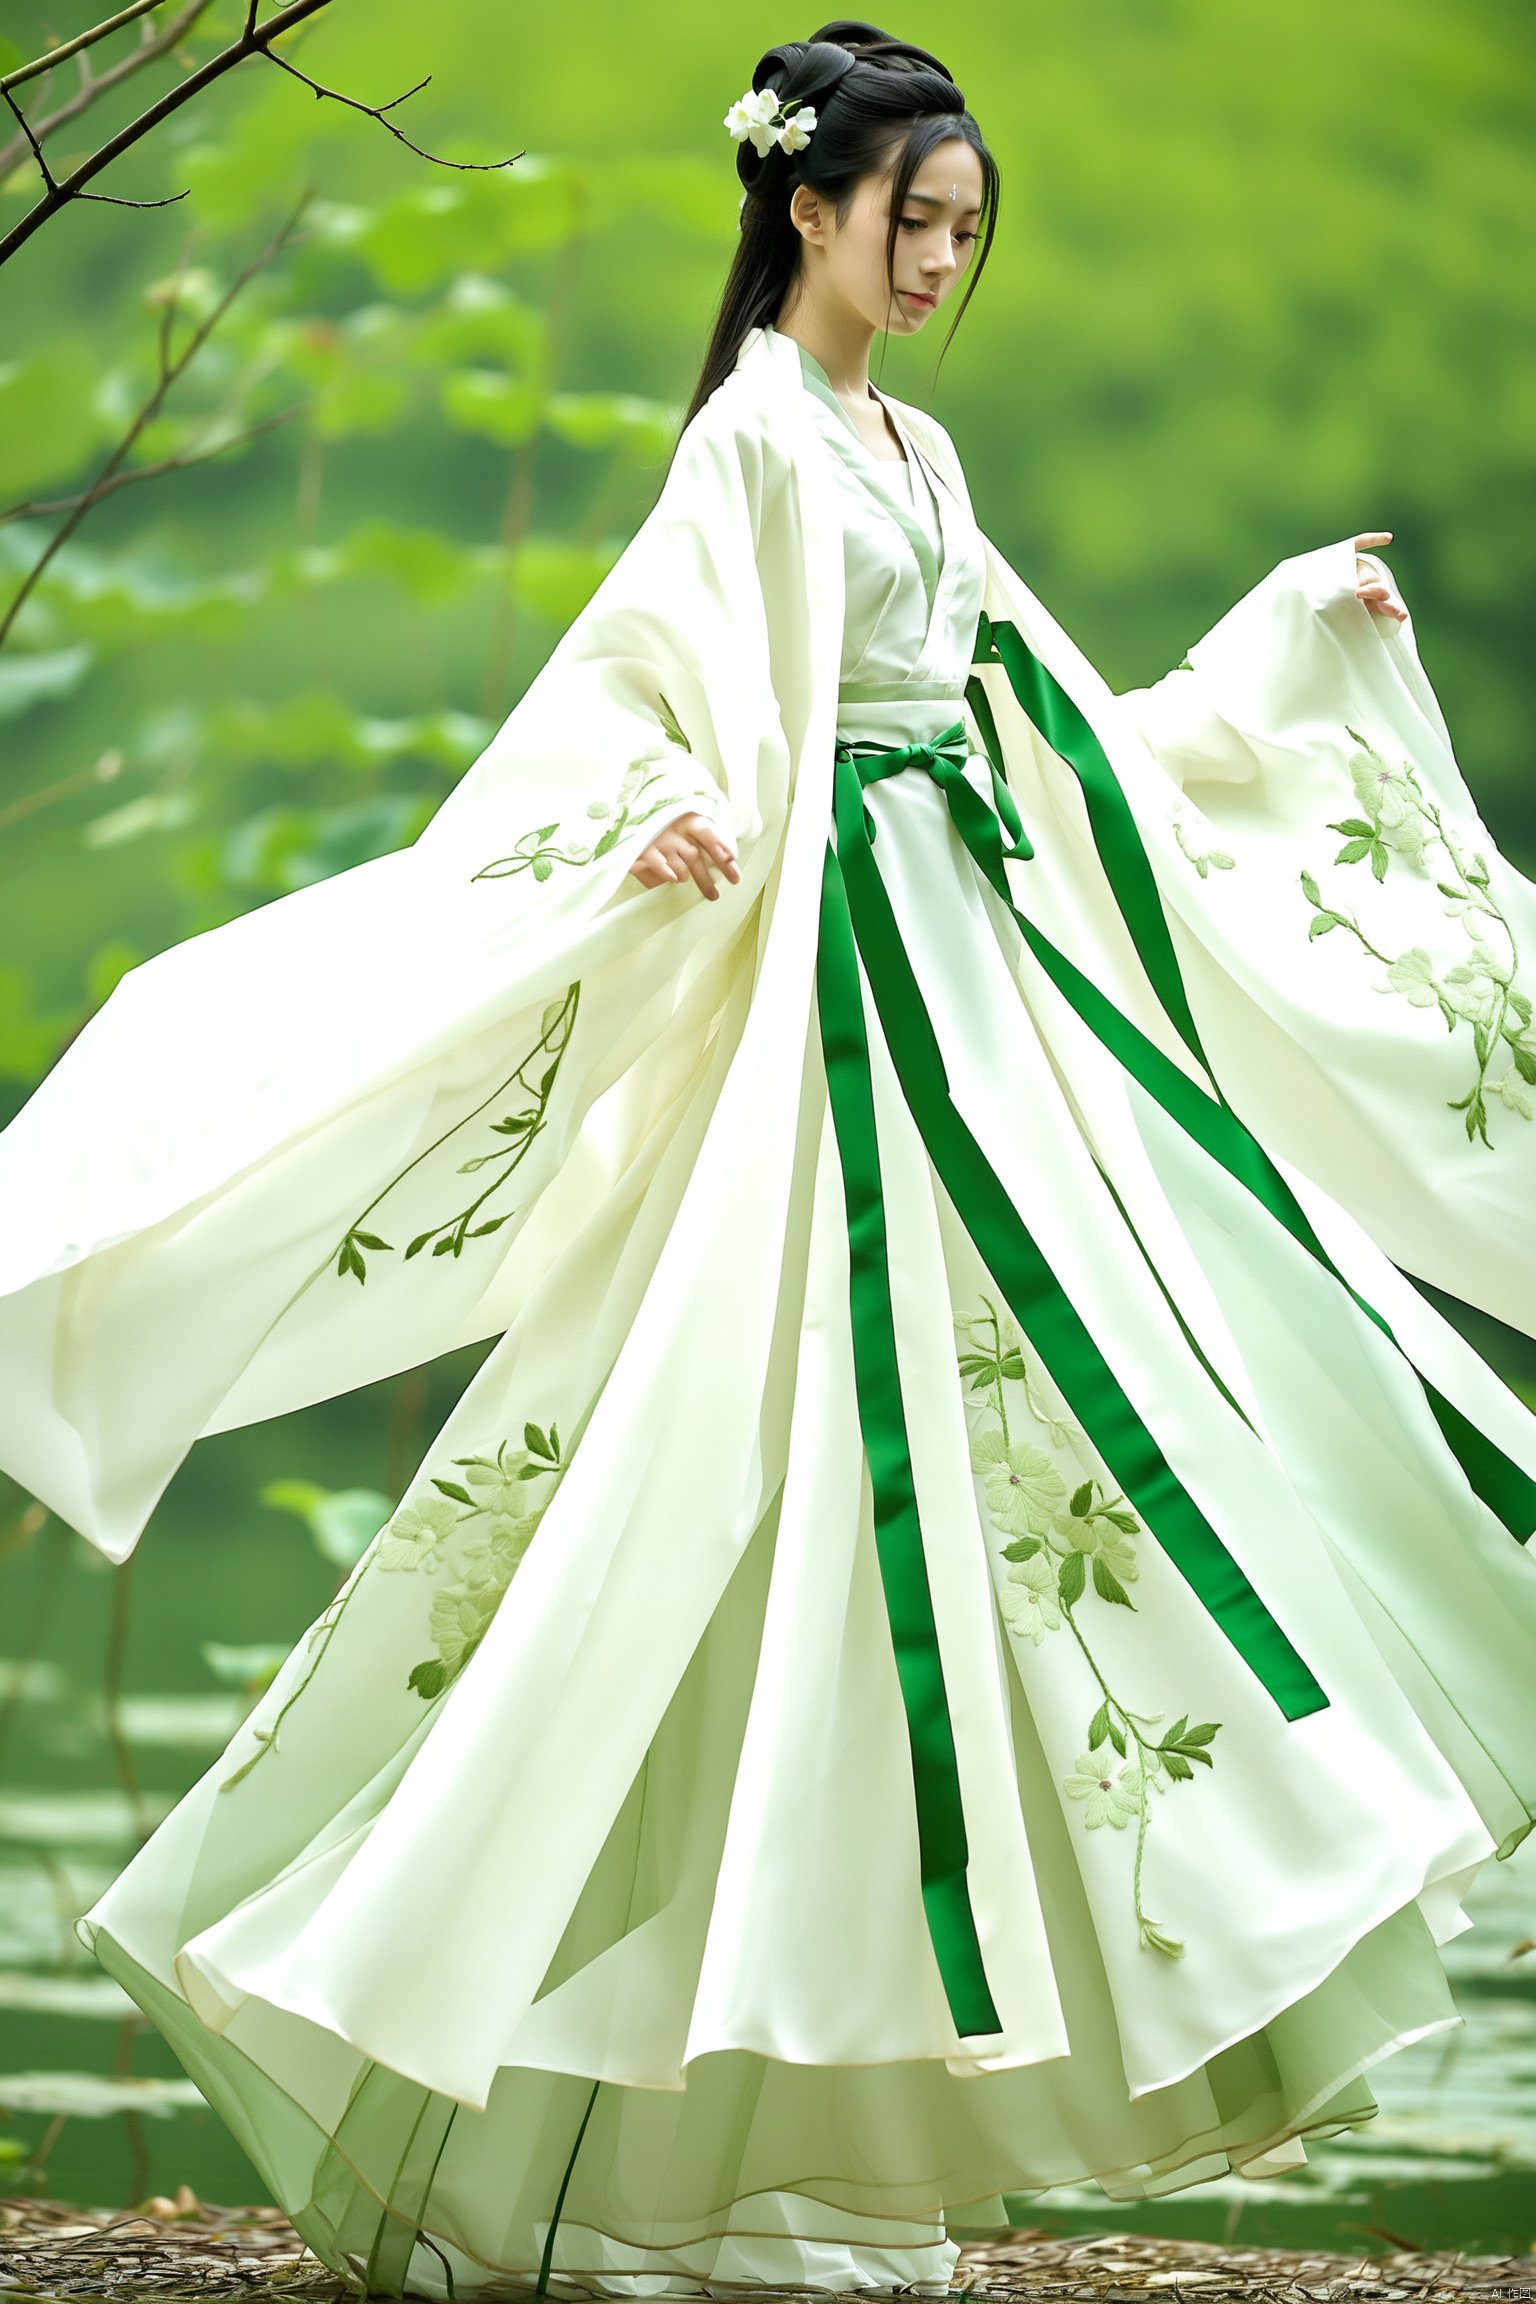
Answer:
[[[1375,562],[1379,567],[1379,562]],[[1202,1037],[1264,1140],[1409,1272],[1536,1332],[1536,889],[1352,539],[1105,705]]]

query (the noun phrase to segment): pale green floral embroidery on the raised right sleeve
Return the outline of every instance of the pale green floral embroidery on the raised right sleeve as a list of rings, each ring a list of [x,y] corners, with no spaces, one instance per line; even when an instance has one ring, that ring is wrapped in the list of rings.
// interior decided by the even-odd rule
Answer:
[[[1313,905],[1308,938],[1343,929],[1382,965],[1384,979],[1377,991],[1398,993],[1409,1007],[1439,1009],[1446,1032],[1472,1032],[1476,1076],[1467,1094],[1448,1097],[1446,1106],[1462,1115],[1469,1143],[1481,1138],[1492,1147],[1490,1097],[1520,1120],[1529,1120],[1534,1111],[1527,1090],[1536,1087],[1536,1032],[1531,1032],[1531,1000],[1515,982],[1520,972],[1515,931],[1488,887],[1485,857],[1446,823],[1409,763],[1391,767],[1354,728],[1347,735],[1359,744],[1349,776],[1361,813],[1329,825],[1329,832],[1345,834],[1333,862],[1368,862],[1372,878],[1384,880],[1396,857],[1405,871],[1432,878],[1446,899],[1442,905],[1446,919],[1460,922],[1472,949],[1451,963],[1437,961],[1423,945],[1396,956],[1382,952],[1356,915],[1324,901],[1315,876],[1303,871],[1301,892]]]

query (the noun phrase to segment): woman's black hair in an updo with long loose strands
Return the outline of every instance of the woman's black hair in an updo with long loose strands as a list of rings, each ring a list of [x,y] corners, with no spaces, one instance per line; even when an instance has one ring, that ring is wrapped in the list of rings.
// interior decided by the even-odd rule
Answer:
[[[790,194],[797,184],[824,194],[834,203],[838,223],[845,223],[861,177],[889,170],[891,228],[884,253],[891,297],[900,210],[912,177],[935,145],[958,136],[981,159],[986,230],[960,311],[969,304],[997,228],[997,161],[965,108],[963,90],[928,48],[891,39],[873,23],[838,18],[824,23],[811,39],[769,48],[753,71],[753,90],[762,88],[778,90],[785,115],[792,106],[808,104],[815,111],[815,127],[799,152],[785,152],[778,143],[758,152],[748,138],[737,145],[737,175],[746,194],[742,242],[721,288],[709,350],[684,426],[730,376],[748,329],[771,323],[783,309],[801,253],[801,237],[790,221]],[[953,336],[953,327],[949,334]]]

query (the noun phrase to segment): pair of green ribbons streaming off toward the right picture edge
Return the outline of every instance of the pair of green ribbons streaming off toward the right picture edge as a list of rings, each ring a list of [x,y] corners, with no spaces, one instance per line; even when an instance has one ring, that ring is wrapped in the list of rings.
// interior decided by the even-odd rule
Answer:
[[[1177,1120],[1179,1127],[1211,1154],[1211,1159],[1221,1161],[1221,1166],[1237,1177],[1237,1182],[1244,1184],[1278,1223],[1285,1226],[1292,1240],[1297,1240],[1308,1256],[1313,1256],[1324,1272],[1329,1272],[1329,1276],[1349,1293],[1366,1318],[1372,1320],[1402,1359],[1414,1366],[1409,1352],[1402,1348],[1386,1318],[1343,1276],[1338,1265],[1331,1260],[1317,1240],[1306,1210],[1276,1168],[1273,1159],[1225,1101],[1221,1083],[1216,1081],[1211,1062],[1200,1044],[1200,1034],[1195,1032],[1195,1021],[1184,991],[1184,977],[1172,949],[1168,922],[1163,917],[1163,899],[1151,873],[1151,862],[1142,846],[1135,816],[1131,813],[1119,779],[1115,776],[1098,737],[1085,721],[1078,705],[1073,705],[1013,624],[993,622],[983,615],[976,634],[976,661],[1004,666],[1009,684],[1013,687],[1027,719],[1078,776],[1089,811],[1094,846],[1105,869],[1115,903],[1119,905],[1126,929],[1131,931],[1135,952],[1165,1016],[1184,1039],[1191,1055],[1195,1055],[1209,1074],[1209,1092],[1200,1087],[1197,1081],[1191,1081],[1191,1076],[1181,1071],[1179,1064],[1174,1064],[1151,1039],[1147,1039],[1147,1034],[1140,1032],[1128,1016],[1121,1016],[1098,986],[1073,968],[1073,963],[1057,952],[1057,947],[1018,910],[1009,889],[1009,878],[1002,871],[1002,839],[997,829],[990,834],[979,829],[979,813],[988,813],[986,799],[976,793],[963,770],[953,767],[953,760],[946,758],[942,767],[937,763],[933,765],[933,774],[944,788],[956,832],[969,848],[979,871],[1006,903],[1045,975],[1052,984],[1057,984],[1103,1046],[1110,1048],[1121,1067],[1140,1081],[1151,1097],[1156,1097],[1163,1111]],[[993,790],[997,790],[997,783],[1002,781],[1002,746],[997,742],[997,723],[990,698],[986,696],[981,680],[969,682],[967,700],[972,703],[972,712],[983,730]],[[1018,823],[1018,811],[1013,811],[1011,820]],[[1009,820],[1004,818],[1004,823]],[[1504,1528],[1520,1544],[1524,1544],[1536,1530],[1536,1479],[1506,1456],[1504,1449],[1488,1438],[1488,1433],[1478,1431],[1478,1426],[1472,1424],[1472,1419],[1455,1408],[1423,1375],[1423,1371],[1414,1369],[1414,1375],[1423,1387],[1425,1403],[1474,1495],[1478,1495],[1504,1523]]]

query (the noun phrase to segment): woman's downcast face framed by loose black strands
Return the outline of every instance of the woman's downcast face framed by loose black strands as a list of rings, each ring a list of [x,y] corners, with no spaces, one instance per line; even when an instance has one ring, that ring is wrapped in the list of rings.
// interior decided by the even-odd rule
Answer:
[[[917,334],[972,260],[981,191],[981,157],[963,136],[923,154],[900,203],[891,295],[884,258],[891,180],[866,175],[845,223],[838,223],[831,200],[799,184],[790,198],[790,217],[806,242],[801,290],[843,306],[843,318],[857,313],[873,329]]]

